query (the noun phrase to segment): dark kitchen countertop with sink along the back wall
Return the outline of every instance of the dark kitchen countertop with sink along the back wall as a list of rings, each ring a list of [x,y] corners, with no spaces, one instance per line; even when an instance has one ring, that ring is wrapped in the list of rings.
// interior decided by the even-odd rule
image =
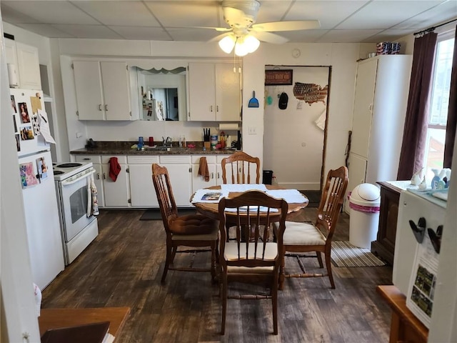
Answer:
[[[201,143],[201,144],[199,144]],[[82,149],[71,150],[70,154],[84,154],[84,155],[220,155],[220,154],[233,154],[236,150],[219,149],[210,150],[203,149],[203,142],[196,142],[195,148],[179,148],[172,146],[171,151],[164,150],[141,150],[138,151],[131,146],[136,142],[120,142],[120,141],[97,141],[96,147],[86,147]]]

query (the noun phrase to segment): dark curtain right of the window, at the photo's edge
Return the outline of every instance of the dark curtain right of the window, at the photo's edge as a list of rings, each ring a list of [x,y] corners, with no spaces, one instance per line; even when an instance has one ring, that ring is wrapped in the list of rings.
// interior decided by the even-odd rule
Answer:
[[[451,89],[449,89],[448,123],[446,124],[446,140],[444,145],[444,168],[451,168],[454,141],[457,129],[457,26],[452,57]]]

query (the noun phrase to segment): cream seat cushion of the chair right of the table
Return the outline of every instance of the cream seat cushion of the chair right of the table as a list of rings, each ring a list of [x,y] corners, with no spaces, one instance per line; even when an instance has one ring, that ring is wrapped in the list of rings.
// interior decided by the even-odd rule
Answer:
[[[326,237],[311,223],[286,222],[283,245],[326,245]]]

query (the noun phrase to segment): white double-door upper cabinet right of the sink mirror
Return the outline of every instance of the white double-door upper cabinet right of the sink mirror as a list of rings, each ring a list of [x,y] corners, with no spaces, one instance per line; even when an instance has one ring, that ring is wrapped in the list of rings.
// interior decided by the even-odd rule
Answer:
[[[189,120],[240,121],[240,74],[227,63],[189,63]]]

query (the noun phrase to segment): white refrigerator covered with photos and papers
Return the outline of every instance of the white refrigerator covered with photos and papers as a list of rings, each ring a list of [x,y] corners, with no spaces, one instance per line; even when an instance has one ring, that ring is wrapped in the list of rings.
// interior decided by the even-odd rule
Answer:
[[[34,283],[44,289],[64,270],[56,188],[43,94],[10,89],[26,229]]]

